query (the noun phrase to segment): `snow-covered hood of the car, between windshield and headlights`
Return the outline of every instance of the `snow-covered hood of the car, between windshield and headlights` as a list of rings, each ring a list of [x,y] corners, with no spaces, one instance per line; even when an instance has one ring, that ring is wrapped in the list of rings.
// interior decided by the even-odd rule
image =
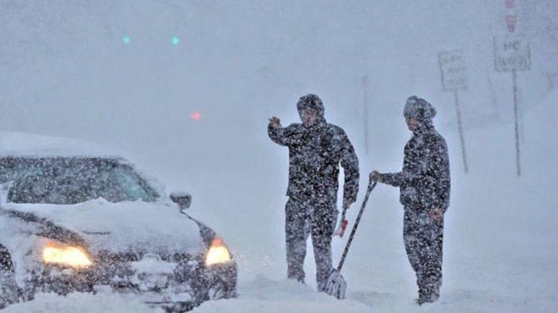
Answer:
[[[62,227],[83,239],[93,253],[147,249],[199,253],[206,249],[197,223],[181,214],[174,203],[112,203],[98,198],[71,205],[3,203],[2,207],[15,217],[32,215],[43,225]]]

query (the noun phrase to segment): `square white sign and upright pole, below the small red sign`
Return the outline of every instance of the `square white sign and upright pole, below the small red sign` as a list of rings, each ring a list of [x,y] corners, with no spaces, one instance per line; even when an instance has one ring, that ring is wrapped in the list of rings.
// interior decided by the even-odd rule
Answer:
[[[515,128],[515,166],[521,176],[521,150],[518,118],[518,71],[531,69],[529,40],[521,35],[495,36],[494,60],[497,72],[511,72],[513,83],[513,116]]]

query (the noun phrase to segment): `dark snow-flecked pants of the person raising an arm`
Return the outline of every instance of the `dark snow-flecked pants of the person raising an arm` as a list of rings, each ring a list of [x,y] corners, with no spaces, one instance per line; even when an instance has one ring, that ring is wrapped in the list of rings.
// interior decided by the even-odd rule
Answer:
[[[331,272],[331,236],[335,231],[335,201],[320,202],[291,197],[285,207],[287,277],[304,282],[306,241],[312,235],[318,291],[324,291]]]

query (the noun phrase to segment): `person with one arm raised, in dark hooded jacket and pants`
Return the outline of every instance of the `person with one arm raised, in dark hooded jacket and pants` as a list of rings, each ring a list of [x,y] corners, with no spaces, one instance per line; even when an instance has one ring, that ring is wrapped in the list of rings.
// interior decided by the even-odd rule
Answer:
[[[305,95],[296,104],[302,123],[282,127],[269,120],[269,138],[289,148],[289,200],[285,207],[287,278],[304,282],[306,241],[312,236],[318,291],[324,291],[331,272],[331,236],[338,211],[339,164],[345,171],[343,207],[356,201],[359,191],[359,159],[340,127],[324,118],[317,95]]]

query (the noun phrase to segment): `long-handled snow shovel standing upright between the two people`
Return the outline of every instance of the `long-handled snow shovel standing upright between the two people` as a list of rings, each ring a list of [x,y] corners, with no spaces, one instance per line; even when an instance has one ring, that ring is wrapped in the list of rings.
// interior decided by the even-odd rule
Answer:
[[[345,257],[347,257],[347,253],[349,252],[349,248],[351,247],[351,243],[356,232],[356,227],[359,227],[359,222],[361,221],[364,208],[366,207],[366,202],[368,202],[370,193],[372,193],[372,190],[374,190],[376,184],[377,182],[372,183],[372,181],[368,183],[368,189],[366,190],[366,195],[364,197],[364,201],[362,202],[361,210],[359,211],[359,215],[356,216],[356,220],[354,221],[354,226],[349,236],[349,240],[347,240],[345,251],[343,251],[343,255],[341,256],[341,260],[339,261],[339,265],[337,266],[337,268],[331,269],[331,273],[329,273],[329,278],[326,282],[326,293],[340,300],[345,299],[345,292],[347,291],[347,282],[341,275],[341,268],[343,267],[343,263],[345,263]]]

